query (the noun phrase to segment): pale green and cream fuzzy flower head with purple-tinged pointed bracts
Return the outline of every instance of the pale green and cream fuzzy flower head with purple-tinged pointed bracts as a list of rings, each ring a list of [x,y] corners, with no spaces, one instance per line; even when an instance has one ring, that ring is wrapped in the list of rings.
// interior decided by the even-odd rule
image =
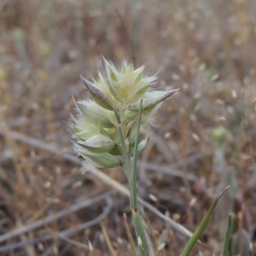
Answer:
[[[132,155],[141,100],[139,152],[147,143],[152,114],[177,90],[153,90],[157,76],[143,74],[145,65],[134,70],[132,63],[123,61],[117,70],[102,56],[102,66],[103,72],[99,71],[99,78],[92,79],[93,82],[81,77],[90,97],[74,100],[79,115],[72,116],[71,127],[77,154],[96,167],[110,168],[122,164],[119,127],[127,152]]]

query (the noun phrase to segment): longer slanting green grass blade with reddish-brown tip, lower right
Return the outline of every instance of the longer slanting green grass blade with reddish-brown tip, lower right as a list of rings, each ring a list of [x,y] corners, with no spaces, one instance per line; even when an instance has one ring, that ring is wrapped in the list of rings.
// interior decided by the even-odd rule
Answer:
[[[207,227],[208,223],[211,220],[212,217],[212,212],[214,211],[216,205],[218,204],[218,201],[220,200],[221,196],[225,193],[225,191],[228,190],[230,186],[227,186],[223,191],[218,195],[214,201],[211,204],[210,209],[206,212],[204,219],[200,223],[200,226],[196,229],[195,233],[193,236],[189,239],[188,243],[186,244],[183,252],[181,253],[182,256],[189,256],[193,247],[195,246],[196,242],[198,241],[199,237],[202,235],[204,232],[205,228]]]

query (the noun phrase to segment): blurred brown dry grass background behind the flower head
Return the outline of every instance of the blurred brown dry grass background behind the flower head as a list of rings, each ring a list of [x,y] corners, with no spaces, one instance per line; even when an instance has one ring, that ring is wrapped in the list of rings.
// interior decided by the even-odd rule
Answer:
[[[220,255],[229,212],[231,255],[255,253],[255,0],[1,0],[0,254],[131,255],[128,198],[68,158],[72,95],[85,97],[79,75],[97,77],[100,54],[116,66],[147,63],[148,74],[159,72],[156,88],[180,88],[140,154],[140,196],[195,231],[230,185],[193,253]],[[104,173],[127,182],[119,168]],[[84,200],[94,201],[45,221]],[[107,208],[101,225],[77,228]],[[188,238],[145,214],[156,242],[166,242],[158,255],[179,255]]]

